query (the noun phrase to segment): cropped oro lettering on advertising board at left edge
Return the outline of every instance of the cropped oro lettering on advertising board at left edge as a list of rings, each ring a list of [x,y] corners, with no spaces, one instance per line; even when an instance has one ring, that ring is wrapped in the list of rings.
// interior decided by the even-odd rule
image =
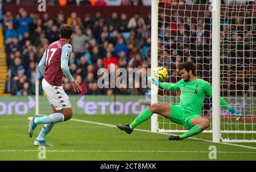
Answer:
[[[28,96],[28,102],[0,102],[0,115],[26,115],[30,108],[35,107],[35,100]]]

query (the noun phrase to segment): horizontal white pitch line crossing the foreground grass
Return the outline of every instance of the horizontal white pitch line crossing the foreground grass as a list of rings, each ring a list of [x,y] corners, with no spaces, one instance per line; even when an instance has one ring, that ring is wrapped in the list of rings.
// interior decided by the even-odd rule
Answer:
[[[0,152],[40,152],[42,150],[0,150]],[[46,150],[46,152],[147,152],[147,153],[209,153],[209,151],[197,150]],[[217,151],[216,153],[245,153],[256,154],[256,152],[228,152]]]

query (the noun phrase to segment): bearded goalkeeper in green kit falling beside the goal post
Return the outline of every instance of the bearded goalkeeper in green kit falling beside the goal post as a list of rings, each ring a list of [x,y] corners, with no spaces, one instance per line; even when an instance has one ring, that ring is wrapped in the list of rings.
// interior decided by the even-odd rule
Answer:
[[[163,83],[155,78],[150,79],[152,83],[163,89],[170,91],[180,90],[179,104],[151,104],[151,106],[138,115],[133,123],[127,125],[117,124],[117,127],[130,134],[137,125],[150,119],[155,113],[189,129],[183,135],[170,135],[169,140],[183,140],[207,129],[210,125],[209,120],[201,117],[200,114],[205,96],[212,96],[212,86],[210,86],[209,82],[196,77],[196,68],[192,62],[184,62],[178,69],[182,79],[177,83]],[[230,107],[223,98],[220,98],[220,104],[232,114],[237,115],[237,120],[241,119],[241,112]]]

